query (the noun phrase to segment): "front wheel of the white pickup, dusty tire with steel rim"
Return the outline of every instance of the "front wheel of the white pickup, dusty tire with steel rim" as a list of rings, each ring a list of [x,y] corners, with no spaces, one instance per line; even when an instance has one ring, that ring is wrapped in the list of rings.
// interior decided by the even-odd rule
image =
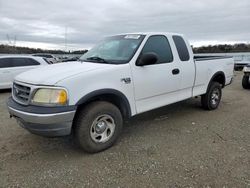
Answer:
[[[115,105],[105,101],[92,102],[76,116],[74,139],[84,151],[97,153],[116,142],[122,126],[122,115]]]

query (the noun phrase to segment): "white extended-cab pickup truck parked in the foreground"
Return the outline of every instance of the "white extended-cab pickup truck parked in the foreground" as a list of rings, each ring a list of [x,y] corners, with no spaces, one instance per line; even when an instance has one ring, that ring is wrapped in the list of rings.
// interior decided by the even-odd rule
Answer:
[[[17,76],[7,105],[31,133],[72,134],[94,153],[115,143],[124,118],[195,96],[205,109],[216,109],[233,68],[232,58],[194,57],[179,34],[121,34],[105,38],[79,61]]]

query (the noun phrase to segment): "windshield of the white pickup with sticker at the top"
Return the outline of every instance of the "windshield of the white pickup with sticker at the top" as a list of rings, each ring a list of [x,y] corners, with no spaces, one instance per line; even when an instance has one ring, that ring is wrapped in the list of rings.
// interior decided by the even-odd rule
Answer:
[[[144,37],[145,35],[129,34],[105,38],[79,60],[110,64],[128,63]]]

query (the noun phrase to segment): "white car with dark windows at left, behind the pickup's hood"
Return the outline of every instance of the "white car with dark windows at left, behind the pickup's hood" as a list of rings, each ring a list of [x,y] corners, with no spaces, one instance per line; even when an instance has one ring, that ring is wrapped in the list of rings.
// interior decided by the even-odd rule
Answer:
[[[0,89],[11,88],[15,76],[18,74],[48,64],[42,57],[0,56]]]

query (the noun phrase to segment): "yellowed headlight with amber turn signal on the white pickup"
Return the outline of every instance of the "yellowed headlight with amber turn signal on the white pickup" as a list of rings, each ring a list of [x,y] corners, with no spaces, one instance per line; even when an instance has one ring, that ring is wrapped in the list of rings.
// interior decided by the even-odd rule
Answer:
[[[33,104],[40,105],[66,105],[68,100],[67,92],[64,89],[38,89],[32,98]]]

